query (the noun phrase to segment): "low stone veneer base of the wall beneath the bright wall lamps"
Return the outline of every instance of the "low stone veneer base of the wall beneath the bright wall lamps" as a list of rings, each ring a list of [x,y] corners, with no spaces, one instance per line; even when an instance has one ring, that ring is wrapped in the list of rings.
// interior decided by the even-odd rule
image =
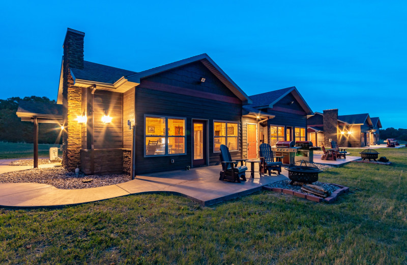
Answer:
[[[123,149],[81,149],[80,150],[80,170],[85,174],[92,174],[91,159],[94,152],[95,171],[94,174],[122,174],[123,169]]]

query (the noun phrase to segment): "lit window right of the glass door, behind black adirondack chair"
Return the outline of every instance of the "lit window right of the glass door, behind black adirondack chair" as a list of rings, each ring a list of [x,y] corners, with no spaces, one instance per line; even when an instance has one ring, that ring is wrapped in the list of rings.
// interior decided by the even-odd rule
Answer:
[[[230,151],[238,150],[238,123],[220,122],[213,123],[214,129],[214,152],[220,152],[220,145],[226,145]]]

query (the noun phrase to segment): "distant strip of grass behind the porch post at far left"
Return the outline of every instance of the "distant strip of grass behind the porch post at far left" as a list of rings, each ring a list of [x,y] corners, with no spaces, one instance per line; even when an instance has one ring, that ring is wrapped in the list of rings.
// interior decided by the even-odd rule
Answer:
[[[49,148],[60,147],[55,144],[39,144],[38,156],[49,157]],[[61,155],[59,151],[59,155]],[[34,144],[0,142],[0,159],[34,157]]]

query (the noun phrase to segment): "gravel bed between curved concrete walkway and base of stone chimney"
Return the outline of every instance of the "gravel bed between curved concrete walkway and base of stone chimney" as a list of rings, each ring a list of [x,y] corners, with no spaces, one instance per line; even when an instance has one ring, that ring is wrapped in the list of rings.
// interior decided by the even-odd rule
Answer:
[[[82,182],[82,180],[89,181],[90,179],[92,179],[92,181],[86,183]],[[68,172],[62,167],[36,168],[0,174],[0,183],[44,183],[64,190],[102,187],[127,182],[129,180],[131,180],[131,177],[126,174],[98,176],[85,175],[79,172],[79,175],[76,176],[74,172]]]

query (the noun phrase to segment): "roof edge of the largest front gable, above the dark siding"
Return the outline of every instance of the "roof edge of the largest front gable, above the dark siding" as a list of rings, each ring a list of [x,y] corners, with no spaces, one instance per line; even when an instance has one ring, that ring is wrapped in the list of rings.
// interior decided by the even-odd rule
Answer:
[[[232,93],[234,93],[245,104],[252,103],[249,96],[247,96],[246,93],[238,85],[236,85],[236,83],[231,80],[231,78],[225,72],[223,72],[223,70],[207,54],[193,56],[181,61],[165,64],[139,73],[130,74],[126,76],[126,78],[129,82],[140,84],[141,78],[155,75],[197,61],[200,61],[203,65],[205,65]]]

